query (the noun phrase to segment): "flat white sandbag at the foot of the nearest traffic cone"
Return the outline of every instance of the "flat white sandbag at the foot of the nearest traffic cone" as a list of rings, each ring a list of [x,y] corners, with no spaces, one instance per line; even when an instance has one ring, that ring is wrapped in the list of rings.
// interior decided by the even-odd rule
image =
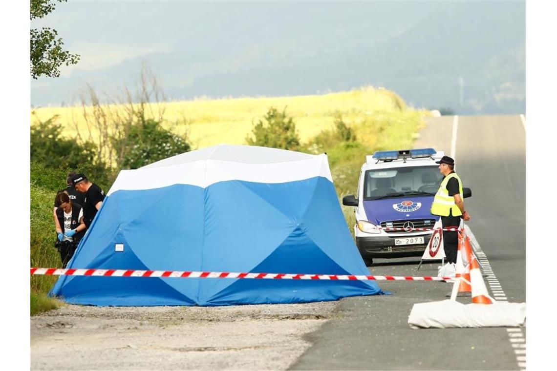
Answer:
[[[462,304],[454,300],[414,304],[408,324],[418,328],[519,327],[526,303]]]

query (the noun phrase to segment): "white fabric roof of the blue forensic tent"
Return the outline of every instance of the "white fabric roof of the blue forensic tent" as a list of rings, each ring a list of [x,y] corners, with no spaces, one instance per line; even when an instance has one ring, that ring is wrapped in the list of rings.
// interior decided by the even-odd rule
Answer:
[[[108,195],[188,184],[208,187],[229,180],[286,183],[324,177],[331,182],[327,156],[257,146],[218,145],[169,157],[135,170],[122,170]]]

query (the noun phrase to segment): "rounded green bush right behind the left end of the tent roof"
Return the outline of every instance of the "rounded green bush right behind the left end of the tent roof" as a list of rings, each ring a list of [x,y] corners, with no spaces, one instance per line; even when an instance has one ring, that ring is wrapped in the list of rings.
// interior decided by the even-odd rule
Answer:
[[[111,137],[116,152],[124,153],[120,169],[138,169],[152,162],[188,152],[186,138],[163,128],[159,121],[141,120],[130,125],[126,137]]]

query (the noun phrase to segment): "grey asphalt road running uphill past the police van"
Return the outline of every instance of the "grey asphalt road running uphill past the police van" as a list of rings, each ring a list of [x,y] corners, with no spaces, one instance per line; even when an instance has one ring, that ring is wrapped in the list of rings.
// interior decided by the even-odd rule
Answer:
[[[453,117],[431,118],[414,147],[451,155]],[[467,223],[511,302],[526,300],[525,127],[520,116],[460,116],[456,171],[472,189]],[[375,259],[377,275],[436,275],[419,258]],[[452,285],[385,282],[392,295],[341,300],[334,319],[308,335],[313,343],[291,369],[520,369],[505,328],[411,329],[414,303],[446,299]],[[470,298],[459,298],[470,303]],[[524,333],[522,329],[522,333]]]

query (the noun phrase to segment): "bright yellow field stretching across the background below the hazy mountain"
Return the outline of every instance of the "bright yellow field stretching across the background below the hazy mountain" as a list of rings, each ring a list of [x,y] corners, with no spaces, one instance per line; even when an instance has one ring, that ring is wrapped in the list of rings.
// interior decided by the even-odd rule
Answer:
[[[396,120],[397,115],[402,113],[400,109],[405,108],[404,102],[395,93],[373,87],[292,97],[201,98],[160,103],[158,108],[164,108],[164,125],[177,132],[183,132],[185,122],[190,122],[189,142],[196,149],[217,144],[245,144],[252,123],[262,118],[270,107],[280,111],[286,107],[287,115],[294,117],[302,142],[331,128],[337,111],[346,123],[354,125],[377,116],[392,116]],[[58,115],[57,122],[65,127],[64,133],[69,137],[76,135],[76,124],[82,134],[87,130],[81,107],[38,108],[35,115],[41,121]],[[36,117],[31,116],[31,123],[36,121]]]

